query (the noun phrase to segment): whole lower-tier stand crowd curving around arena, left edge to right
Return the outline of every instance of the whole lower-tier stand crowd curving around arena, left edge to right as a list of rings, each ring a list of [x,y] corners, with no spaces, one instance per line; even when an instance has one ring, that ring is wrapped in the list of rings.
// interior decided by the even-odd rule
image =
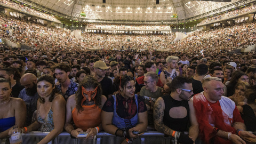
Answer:
[[[174,42],[174,33],[170,34],[82,34],[75,38],[70,30],[60,27],[46,27],[40,23],[25,19],[4,18],[1,16],[1,37],[9,38],[14,43],[26,44],[42,50],[67,49],[146,49],[172,50],[175,52],[195,52],[206,49],[228,51],[246,47],[255,43],[255,22],[234,23],[219,26],[206,31],[196,31],[187,38]],[[194,49],[189,49],[194,47]]]

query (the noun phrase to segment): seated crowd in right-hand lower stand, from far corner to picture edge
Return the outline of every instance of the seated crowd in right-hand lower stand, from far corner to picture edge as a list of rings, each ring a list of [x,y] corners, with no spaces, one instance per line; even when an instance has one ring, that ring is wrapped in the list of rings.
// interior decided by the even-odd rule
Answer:
[[[229,51],[255,43],[255,22],[234,23],[231,26],[199,30],[185,39],[174,42],[170,49],[174,51],[215,50]],[[193,49],[190,49],[193,47]]]

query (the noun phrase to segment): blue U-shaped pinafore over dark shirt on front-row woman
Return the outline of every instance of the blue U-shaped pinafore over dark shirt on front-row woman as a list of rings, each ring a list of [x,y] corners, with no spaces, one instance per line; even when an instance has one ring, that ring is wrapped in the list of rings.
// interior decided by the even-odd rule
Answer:
[[[138,124],[138,95],[135,94],[135,102],[136,102],[136,106],[137,106],[137,114],[132,117],[131,119],[128,118],[121,118],[117,115],[116,113],[116,95],[112,95],[112,97],[114,98],[114,116],[113,116],[113,120],[112,123],[118,127],[121,130],[127,130],[127,129],[131,129],[132,127],[136,126]]]

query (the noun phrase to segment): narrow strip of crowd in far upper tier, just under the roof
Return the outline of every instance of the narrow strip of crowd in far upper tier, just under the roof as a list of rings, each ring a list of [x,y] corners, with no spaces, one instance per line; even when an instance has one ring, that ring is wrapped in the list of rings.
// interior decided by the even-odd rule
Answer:
[[[117,24],[102,24],[89,23],[87,28],[93,29],[116,29],[116,30],[171,30],[169,25],[117,25]]]

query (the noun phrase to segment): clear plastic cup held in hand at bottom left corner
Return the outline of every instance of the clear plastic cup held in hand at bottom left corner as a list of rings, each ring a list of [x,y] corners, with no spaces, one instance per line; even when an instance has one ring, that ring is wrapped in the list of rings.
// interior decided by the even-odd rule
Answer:
[[[12,135],[10,140],[11,144],[21,144],[22,143],[22,137],[21,137],[21,129],[17,125],[13,126],[12,129]]]

